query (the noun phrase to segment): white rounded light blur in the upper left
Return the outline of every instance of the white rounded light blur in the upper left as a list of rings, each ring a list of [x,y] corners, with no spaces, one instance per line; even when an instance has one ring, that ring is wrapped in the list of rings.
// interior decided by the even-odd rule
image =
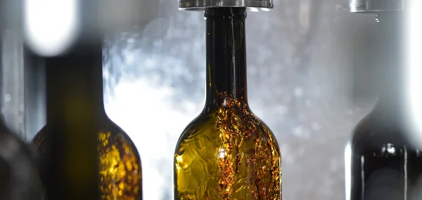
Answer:
[[[25,0],[25,39],[33,51],[63,53],[79,31],[77,0]]]

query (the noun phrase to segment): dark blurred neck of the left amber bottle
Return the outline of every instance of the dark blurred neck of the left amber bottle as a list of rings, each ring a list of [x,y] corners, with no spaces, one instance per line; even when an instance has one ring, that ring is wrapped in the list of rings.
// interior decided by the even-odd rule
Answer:
[[[46,58],[47,121],[72,114],[106,116],[101,41]]]

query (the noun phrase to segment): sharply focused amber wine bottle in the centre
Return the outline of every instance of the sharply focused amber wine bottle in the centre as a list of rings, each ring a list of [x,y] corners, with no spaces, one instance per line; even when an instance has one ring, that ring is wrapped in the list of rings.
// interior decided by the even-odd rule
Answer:
[[[206,98],[174,152],[174,199],[281,199],[281,152],[248,106],[246,8],[205,8]]]

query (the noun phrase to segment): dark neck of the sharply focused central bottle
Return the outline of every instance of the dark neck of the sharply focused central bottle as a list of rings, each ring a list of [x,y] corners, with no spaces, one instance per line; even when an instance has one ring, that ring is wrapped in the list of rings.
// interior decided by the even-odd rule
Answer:
[[[246,8],[206,8],[205,18],[205,109],[224,106],[228,98],[247,105]]]

